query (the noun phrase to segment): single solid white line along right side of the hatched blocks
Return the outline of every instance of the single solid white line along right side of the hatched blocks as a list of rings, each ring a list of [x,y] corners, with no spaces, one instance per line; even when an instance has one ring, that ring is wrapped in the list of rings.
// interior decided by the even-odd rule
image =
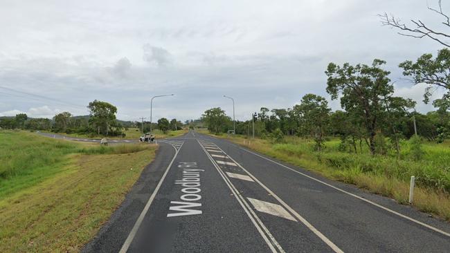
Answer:
[[[222,150],[222,149],[221,149]],[[223,150],[222,152],[224,154],[226,154]],[[228,155],[227,155],[228,156]],[[318,229],[316,229],[316,227],[314,227],[311,223],[309,223],[305,218],[303,218],[303,216],[300,216],[300,214],[298,214],[298,212],[296,212],[294,209],[292,209],[292,207],[289,207],[289,205],[287,205],[285,203],[285,201],[283,201],[280,197],[278,197],[273,191],[271,191],[271,189],[267,188],[267,186],[265,186],[262,182],[260,182],[260,180],[258,180],[257,178],[255,178],[255,176],[253,176],[249,171],[247,171],[246,169],[244,169],[244,167],[242,167],[242,165],[240,165],[239,163],[237,163],[233,158],[231,158],[231,156],[228,156],[228,158],[230,158],[233,162],[235,162],[237,164],[237,166],[239,166],[243,171],[246,172],[246,174],[249,174],[249,176],[251,178],[253,178],[253,180],[255,180],[255,182],[258,182],[259,185],[261,185],[262,188],[264,188],[267,192],[269,192],[269,194],[271,194],[271,196],[273,196],[273,198],[276,198],[276,200],[278,200],[278,202],[285,207],[289,212],[291,212],[291,214],[294,214],[294,216],[296,216],[296,218],[298,219],[298,221],[300,221],[301,223],[303,223],[307,228],[309,228],[309,230],[311,230],[314,234],[316,234],[316,236],[318,236],[318,238],[321,238],[321,240],[326,243],[329,247],[332,248],[332,250],[334,250],[334,252],[336,253],[343,253],[343,251],[336,246],[332,241],[330,241],[330,239],[327,238],[327,236],[323,235],[320,231],[318,231]]]

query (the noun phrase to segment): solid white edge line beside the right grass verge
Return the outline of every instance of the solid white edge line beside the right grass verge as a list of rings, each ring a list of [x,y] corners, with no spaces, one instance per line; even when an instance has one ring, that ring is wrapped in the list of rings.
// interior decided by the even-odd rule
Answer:
[[[236,146],[236,147],[237,147],[237,146]],[[239,148],[239,149],[242,149],[241,147],[238,147],[238,148]],[[252,151],[249,151],[249,150],[246,150],[246,149],[242,149],[242,150],[247,151],[247,152],[249,152],[249,153],[253,153]],[[334,185],[330,185],[330,184],[328,184],[327,182],[323,182],[323,181],[321,181],[321,180],[318,180],[317,178],[313,178],[312,176],[308,176],[307,174],[304,174],[304,173],[302,173],[302,172],[300,172],[300,171],[297,171],[297,170],[295,170],[295,169],[292,169],[292,168],[290,168],[290,167],[287,167],[286,165],[282,165],[280,162],[276,162],[276,161],[273,161],[273,160],[271,160],[271,159],[269,159],[269,158],[266,158],[266,157],[264,157],[264,156],[261,156],[261,155],[259,155],[258,153],[253,153],[253,155],[259,156],[260,158],[264,158],[265,160],[269,160],[269,161],[275,163],[276,165],[280,165],[281,167],[285,167],[286,169],[290,169],[291,171],[294,171],[294,172],[296,172],[296,173],[298,173],[298,174],[300,174],[300,175],[302,175],[302,176],[305,176],[305,177],[307,177],[307,178],[309,178],[309,179],[312,179],[312,180],[314,180],[314,181],[316,181],[316,182],[320,182],[320,183],[323,184],[323,185],[327,185],[327,186],[329,186],[329,187],[332,187],[333,189],[336,189],[337,191],[341,191],[341,192],[343,192],[344,194],[348,194],[348,195],[350,195],[350,196],[352,196],[352,197],[354,197],[354,198],[358,198],[359,200],[363,200],[363,201],[366,202],[366,203],[369,203],[369,204],[371,204],[371,205],[375,205],[376,207],[379,207],[379,208],[381,208],[381,209],[384,209],[385,211],[390,212],[391,214],[395,214],[395,215],[400,216],[400,217],[402,217],[402,218],[406,218],[406,220],[408,220],[408,221],[412,221],[413,223],[417,223],[417,224],[422,225],[422,226],[424,226],[424,227],[427,227],[427,228],[429,228],[429,229],[431,229],[431,230],[433,230],[433,231],[435,231],[435,232],[438,232],[438,233],[440,233],[440,234],[444,234],[445,236],[449,236],[449,237],[450,237],[450,233],[444,232],[444,231],[442,231],[441,229],[438,229],[438,228],[433,227],[433,226],[431,226],[431,225],[428,225],[428,224],[426,224],[426,223],[422,223],[422,221],[417,221],[417,220],[415,220],[414,218],[411,218],[411,217],[406,216],[406,215],[404,215],[404,214],[400,214],[399,212],[395,212],[394,210],[389,209],[388,207],[384,207],[384,206],[379,205],[379,204],[377,204],[377,203],[375,203],[375,202],[372,202],[372,201],[370,201],[370,200],[367,200],[366,198],[362,198],[362,197],[360,197],[360,196],[357,196],[356,194],[352,194],[352,193],[350,193],[350,192],[348,192],[348,191],[345,191],[345,190],[343,190],[343,189],[341,189],[341,188],[335,187]]]

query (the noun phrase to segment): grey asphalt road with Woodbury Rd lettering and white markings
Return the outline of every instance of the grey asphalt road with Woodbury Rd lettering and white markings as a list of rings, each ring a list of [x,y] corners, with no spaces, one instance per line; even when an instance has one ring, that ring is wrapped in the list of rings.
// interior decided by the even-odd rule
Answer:
[[[450,252],[450,225],[190,132],[160,141],[83,252]]]

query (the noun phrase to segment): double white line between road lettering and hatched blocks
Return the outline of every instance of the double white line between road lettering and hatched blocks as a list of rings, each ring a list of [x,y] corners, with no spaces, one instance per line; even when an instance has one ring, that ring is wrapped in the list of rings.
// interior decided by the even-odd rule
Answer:
[[[198,140],[197,140],[198,141]],[[201,145],[200,145],[201,146]],[[261,237],[264,239],[266,244],[269,246],[271,252],[277,252],[274,245],[278,248],[278,251],[281,253],[285,253],[285,250],[282,249],[280,244],[276,241],[275,237],[269,232],[269,229],[262,223],[260,218],[255,214],[253,209],[250,207],[249,203],[246,202],[245,198],[240,194],[239,191],[234,187],[234,185],[231,183],[231,181],[226,178],[226,176],[223,174],[222,170],[219,168],[219,166],[214,162],[213,158],[210,156],[208,152],[206,152],[206,149],[201,146],[201,149],[206,153],[206,156],[208,156],[209,160],[213,163],[213,166],[217,171],[219,172],[219,175],[222,176],[222,179],[225,181],[228,188],[233,193],[233,196],[235,196],[237,202],[241,205],[242,209],[244,209],[244,212],[249,216],[251,222],[256,227],[258,232],[260,232]],[[265,233],[264,233],[265,232]],[[269,237],[268,237],[269,236]],[[269,241],[270,238],[270,241]]]

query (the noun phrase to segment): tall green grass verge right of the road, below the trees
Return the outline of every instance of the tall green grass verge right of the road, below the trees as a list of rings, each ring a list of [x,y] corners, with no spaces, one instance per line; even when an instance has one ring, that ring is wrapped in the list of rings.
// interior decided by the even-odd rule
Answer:
[[[203,131],[203,133],[207,133]],[[292,165],[334,180],[348,182],[363,189],[389,196],[399,203],[408,203],[409,180],[415,176],[415,200],[413,205],[424,212],[436,214],[450,221],[450,143],[426,142],[422,146],[424,156],[413,160],[411,144],[402,142],[401,159],[395,153],[387,156],[370,156],[366,144],[359,154],[339,150],[340,140],[325,143],[325,150],[314,151],[314,142],[298,137],[286,137],[281,143],[269,140],[249,140],[245,136],[227,137],[244,147],[249,147],[267,156],[278,158]]]

